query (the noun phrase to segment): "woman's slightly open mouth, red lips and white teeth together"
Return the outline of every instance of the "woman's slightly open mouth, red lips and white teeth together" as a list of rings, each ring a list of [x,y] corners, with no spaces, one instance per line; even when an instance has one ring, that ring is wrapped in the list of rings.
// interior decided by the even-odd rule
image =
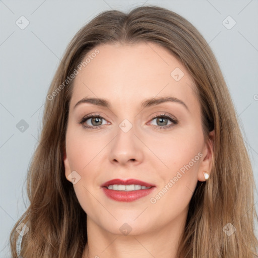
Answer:
[[[156,187],[137,179],[113,179],[101,185],[105,195],[118,202],[133,202],[149,195]]]

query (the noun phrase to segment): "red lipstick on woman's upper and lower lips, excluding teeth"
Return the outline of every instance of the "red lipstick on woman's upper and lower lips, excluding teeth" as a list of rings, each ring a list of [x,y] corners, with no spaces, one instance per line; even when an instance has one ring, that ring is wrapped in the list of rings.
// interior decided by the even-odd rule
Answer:
[[[107,187],[109,185],[141,185],[141,186],[146,186],[146,187],[150,187],[148,189],[141,189],[141,190],[132,190],[132,191],[125,191],[125,190],[113,190],[113,189],[108,189]],[[105,183],[103,183],[101,185],[105,195],[115,201],[118,202],[133,202],[136,201],[142,197],[145,197],[147,195],[149,195],[155,188],[155,185],[151,184],[151,183],[147,183],[141,180],[137,180],[137,179],[126,179],[126,180],[122,180],[122,179],[112,179],[109,180]]]

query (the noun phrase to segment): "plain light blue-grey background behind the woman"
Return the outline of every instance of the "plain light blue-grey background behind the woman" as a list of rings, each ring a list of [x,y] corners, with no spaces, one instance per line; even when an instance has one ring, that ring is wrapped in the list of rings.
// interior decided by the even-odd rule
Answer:
[[[197,27],[213,49],[243,128],[258,185],[256,0],[0,0],[0,257],[10,257],[10,230],[28,205],[25,184],[27,169],[38,144],[47,89],[65,48],[75,33],[101,11],[127,11],[144,4],[162,6],[182,15]],[[30,23],[24,30],[16,25],[21,16],[25,16]],[[228,16],[236,21],[230,30],[222,24]],[[16,127],[21,119],[29,124],[24,133]]]

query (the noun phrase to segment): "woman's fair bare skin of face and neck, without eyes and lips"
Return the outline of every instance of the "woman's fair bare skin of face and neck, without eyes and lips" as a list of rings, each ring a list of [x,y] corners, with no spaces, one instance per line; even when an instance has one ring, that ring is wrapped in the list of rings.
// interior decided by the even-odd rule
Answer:
[[[195,85],[182,63],[155,43],[104,44],[97,49],[99,54],[74,80],[63,157],[67,179],[71,181],[72,171],[81,176],[74,189],[87,214],[83,257],[176,258],[192,193],[198,180],[205,181],[203,171],[212,168],[212,141],[204,140]],[[170,75],[175,68],[184,73],[179,81]],[[180,99],[188,110],[176,102],[141,108],[142,101],[165,96]],[[110,108],[91,103],[74,108],[84,97],[104,98]],[[78,123],[91,113],[103,117],[94,130]],[[158,118],[152,116],[164,113],[178,123],[159,130]],[[119,127],[124,119],[133,126],[127,133]],[[165,120],[163,125],[171,123]],[[90,118],[84,124],[98,123]],[[151,203],[150,198],[198,153],[202,157]],[[117,202],[100,187],[114,178],[135,178],[156,188],[137,201]],[[119,230],[124,223],[132,229],[128,235]]]

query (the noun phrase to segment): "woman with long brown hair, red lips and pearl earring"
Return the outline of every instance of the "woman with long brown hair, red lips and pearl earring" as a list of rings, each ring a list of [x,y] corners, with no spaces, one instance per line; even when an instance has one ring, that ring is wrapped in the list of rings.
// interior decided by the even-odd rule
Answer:
[[[76,34],[27,187],[13,257],[257,255],[228,89],[204,38],[166,9],[107,11]]]

